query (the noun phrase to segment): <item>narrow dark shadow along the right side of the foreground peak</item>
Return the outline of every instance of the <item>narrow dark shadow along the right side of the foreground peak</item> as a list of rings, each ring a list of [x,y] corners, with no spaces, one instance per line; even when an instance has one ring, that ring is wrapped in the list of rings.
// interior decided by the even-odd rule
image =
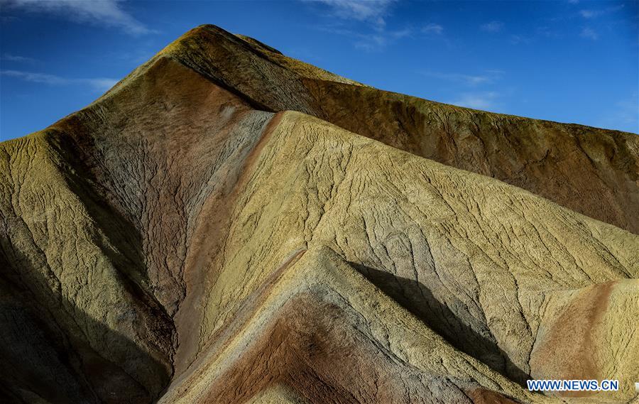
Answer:
[[[351,262],[350,265],[455,348],[479,359],[521,386],[530,378],[528,373],[510,361],[508,354],[499,348],[494,339],[476,332],[447,305],[439,302],[422,283],[358,263]]]

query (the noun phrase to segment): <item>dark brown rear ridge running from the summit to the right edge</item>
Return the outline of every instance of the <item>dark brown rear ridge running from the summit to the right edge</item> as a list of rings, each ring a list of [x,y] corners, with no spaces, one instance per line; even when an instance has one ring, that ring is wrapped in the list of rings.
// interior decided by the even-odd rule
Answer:
[[[215,26],[189,31],[158,57],[180,61],[258,109],[314,115],[639,232],[639,137],[633,133],[491,114],[381,91]]]

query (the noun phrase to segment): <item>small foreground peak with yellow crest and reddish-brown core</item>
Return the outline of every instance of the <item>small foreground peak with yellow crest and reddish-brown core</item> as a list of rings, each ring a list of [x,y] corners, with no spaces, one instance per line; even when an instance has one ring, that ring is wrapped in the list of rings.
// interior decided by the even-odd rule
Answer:
[[[273,269],[236,333],[160,403],[550,402],[449,346],[331,249]]]

